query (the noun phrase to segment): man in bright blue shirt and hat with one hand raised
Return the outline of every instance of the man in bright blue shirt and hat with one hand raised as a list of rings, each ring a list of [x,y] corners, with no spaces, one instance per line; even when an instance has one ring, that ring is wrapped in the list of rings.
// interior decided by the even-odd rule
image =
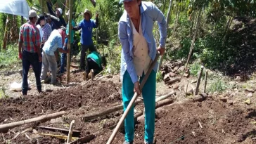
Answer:
[[[77,27],[73,27],[72,30],[80,30],[82,29],[81,34],[81,44],[82,44],[82,50],[81,50],[81,57],[80,57],[80,68],[81,70],[85,70],[85,55],[87,53],[87,50],[89,49],[91,52],[96,51],[96,48],[94,47],[94,42],[92,41],[92,30],[93,28],[98,27],[98,14],[96,14],[96,20],[92,20],[92,14],[91,11],[88,9],[85,9],[84,11],[84,20],[82,20]]]

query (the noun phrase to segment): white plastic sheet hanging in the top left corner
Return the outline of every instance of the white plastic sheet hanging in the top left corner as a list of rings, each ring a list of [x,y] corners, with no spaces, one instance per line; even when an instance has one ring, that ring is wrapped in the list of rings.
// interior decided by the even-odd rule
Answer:
[[[0,0],[0,13],[20,15],[28,19],[29,11],[30,6],[26,0]]]

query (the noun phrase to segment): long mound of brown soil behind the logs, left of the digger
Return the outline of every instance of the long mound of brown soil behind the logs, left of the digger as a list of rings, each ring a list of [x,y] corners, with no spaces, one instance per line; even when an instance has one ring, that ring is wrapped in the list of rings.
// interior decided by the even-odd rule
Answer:
[[[110,98],[113,93],[117,98]],[[1,99],[0,123],[6,123],[4,120],[9,118],[18,121],[79,107],[84,107],[87,111],[97,110],[117,102],[121,102],[120,85],[113,81],[94,81],[85,86],[72,86],[38,96],[25,96],[23,99]]]

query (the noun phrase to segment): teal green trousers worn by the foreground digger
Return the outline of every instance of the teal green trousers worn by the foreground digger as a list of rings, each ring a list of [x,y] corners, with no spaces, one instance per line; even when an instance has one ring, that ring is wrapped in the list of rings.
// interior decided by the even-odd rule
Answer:
[[[140,78],[140,83],[143,79]],[[155,132],[155,89],[156,89],[156,73],[152,70],[146,84],[142,89],[142,96],[145,105],[145,140],[147,143],[153,143]],[[126,71],[122,81],[122,102],[124,111],[129,105],[130,100],[134,96],[134,84]],[[134,106],[129,110],[127,117],[124,119],[125,140],[132,142],[134,140]]]

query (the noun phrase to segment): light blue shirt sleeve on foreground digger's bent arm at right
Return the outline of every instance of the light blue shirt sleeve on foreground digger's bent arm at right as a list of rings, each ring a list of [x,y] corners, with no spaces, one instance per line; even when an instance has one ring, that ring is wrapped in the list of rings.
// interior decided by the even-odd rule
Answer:
[[[158,22],[158,27],[160,31],[160,47],[165,47],[165,41],[167,37],[167,24],[165,20],[165,15],[159,10],[155,4],[152,3],[152,15],[154,21]]]

